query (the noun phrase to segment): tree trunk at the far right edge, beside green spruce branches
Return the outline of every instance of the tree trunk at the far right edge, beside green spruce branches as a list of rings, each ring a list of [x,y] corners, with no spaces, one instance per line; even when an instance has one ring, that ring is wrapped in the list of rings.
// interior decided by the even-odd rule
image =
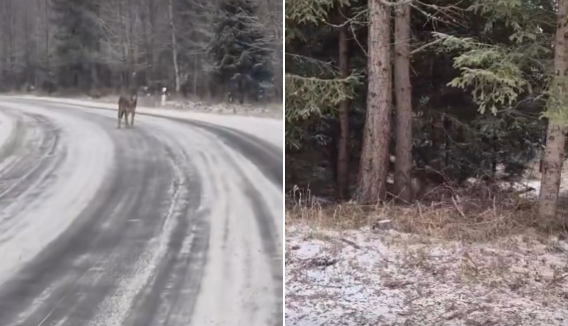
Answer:
[[[568,27],[566,16],[568,14],[568,0],[558,2],[558,18],[556,29],[556,46],[554,48],[554,70],[556,81],[553,87],[558,87],[554,92],[561,103],[566,103],[566,42],[568,41]],[[554,108],[565,109],[565,108]],[[566,124],[561,121],[549,120],[546,134],[546,147],[544,162],[542,164],[542,183],[538,201],[538,215],[541,221],[552,221],[556,217],[558,190],[560,188],[560,176],[564,142],[566,139]]]

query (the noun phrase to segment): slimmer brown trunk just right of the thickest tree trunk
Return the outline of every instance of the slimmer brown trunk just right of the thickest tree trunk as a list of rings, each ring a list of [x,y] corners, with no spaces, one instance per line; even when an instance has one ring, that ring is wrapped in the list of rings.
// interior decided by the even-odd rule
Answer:
[[[412,168],[412,86],[410,84],[410,5],[396,7],[394,27],[394,87],[396,99],[395,192],[410,202]]]

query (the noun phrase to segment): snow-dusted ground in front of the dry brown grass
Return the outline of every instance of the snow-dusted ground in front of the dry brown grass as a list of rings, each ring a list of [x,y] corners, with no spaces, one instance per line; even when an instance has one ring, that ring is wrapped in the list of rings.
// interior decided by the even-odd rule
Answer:
[[[568,325],[568,244],[286,230],[286,325]]]

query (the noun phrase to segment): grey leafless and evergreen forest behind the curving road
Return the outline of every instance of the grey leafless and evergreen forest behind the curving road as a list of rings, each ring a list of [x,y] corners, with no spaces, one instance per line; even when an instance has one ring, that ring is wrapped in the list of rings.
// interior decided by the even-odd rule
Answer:
[[[281,0],[2,0],[0,91],[279,102],[282,11]]]

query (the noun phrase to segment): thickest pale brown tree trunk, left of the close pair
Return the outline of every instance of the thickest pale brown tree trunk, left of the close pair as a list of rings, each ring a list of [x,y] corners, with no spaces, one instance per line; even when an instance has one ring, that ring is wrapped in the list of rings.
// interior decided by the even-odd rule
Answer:
[[[369,0],[369,20],[369,85],[357,199],[376,203],[385,199],[389,168],[392,106],[390,7],[378,0]]]

